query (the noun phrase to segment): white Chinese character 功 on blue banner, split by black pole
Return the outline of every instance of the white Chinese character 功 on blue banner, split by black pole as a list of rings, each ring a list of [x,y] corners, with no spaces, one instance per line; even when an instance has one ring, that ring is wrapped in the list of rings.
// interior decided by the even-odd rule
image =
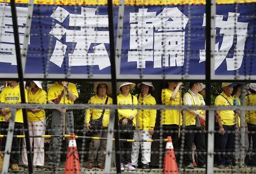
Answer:
[[[243,61],[243,52],[247,37],[247,22],[238,22],[239,13],[229,12],[228,19],[223,20],[223,15],[216,15],[216,28],[220,28],[223,35],[222,43],[215,44],[214,70],[226,60],[228,71],[240,69]],[[203,26],[205,26],[206,15],[204,14]],[[215,32],[216,33],[216,32]],[[234,47],[233,47],[234,45]],[[234,48],[234,55],[229,56],[230,50]],[[200,50],[200,63],[205,61],[205,49]]]

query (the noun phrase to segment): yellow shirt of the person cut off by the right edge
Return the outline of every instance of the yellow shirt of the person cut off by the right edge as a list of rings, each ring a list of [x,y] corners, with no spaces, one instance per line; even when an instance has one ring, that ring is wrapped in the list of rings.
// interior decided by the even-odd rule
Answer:
[[[256,105],[256,94],[247,95],[245,98],[246,105]],[[246,122],[256,125],[256,112],[246,111]]]

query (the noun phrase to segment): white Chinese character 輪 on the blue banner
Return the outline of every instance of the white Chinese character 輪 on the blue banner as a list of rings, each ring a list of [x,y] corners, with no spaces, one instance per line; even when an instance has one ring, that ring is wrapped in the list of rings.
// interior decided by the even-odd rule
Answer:
[[[148,9],[130,12],[127,62],[137,62],[137,68],[145,68],[146,61],[154,61],[154,68],[183,66],[187,22],[188,18],[177,7],[164,8],[157,16]]]

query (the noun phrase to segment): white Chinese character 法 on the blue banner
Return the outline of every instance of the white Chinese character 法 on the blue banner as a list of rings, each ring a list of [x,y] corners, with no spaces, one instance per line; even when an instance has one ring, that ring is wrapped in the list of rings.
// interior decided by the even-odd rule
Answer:
[[[80,29],[66,29],[60,24],[55,25],[49,33],[58,40],[49,61],[61,67],[67,45],[59,40],[66,34],[66,42],[76,43],[73,53],[68,54],[69,67],[98,65],[102,70],[110,66],[109,54],[104,45],[109,44],[109,32],[98,30],[98,27],[108,27],[108,15],[96,15],[96,11],[97,9],[81,7],[81,14],[69,14],[67,10],[57,7],[52,18],[63,23],[69,15],[69,27]],[[91,44],[97,45],[92,47],[93,53],[88,53]]]

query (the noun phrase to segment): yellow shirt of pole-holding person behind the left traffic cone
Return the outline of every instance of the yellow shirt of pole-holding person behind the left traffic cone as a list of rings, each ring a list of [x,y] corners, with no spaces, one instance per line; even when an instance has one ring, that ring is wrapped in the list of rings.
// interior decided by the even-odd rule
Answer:
[[[68,83],[68,89],[75,95],[77,98],[79,97],[76,84]],[[48,90],[48,100],[55,100],[57,97],[61,95],[61,92],[64,90],[64,87],[59,83],[55,82]],[[64,96],[61,97],[60,104],[64,104]],[[68,99],[68,92],[65,91],[65,104],[74,104],[74,101]]]

